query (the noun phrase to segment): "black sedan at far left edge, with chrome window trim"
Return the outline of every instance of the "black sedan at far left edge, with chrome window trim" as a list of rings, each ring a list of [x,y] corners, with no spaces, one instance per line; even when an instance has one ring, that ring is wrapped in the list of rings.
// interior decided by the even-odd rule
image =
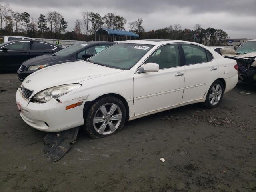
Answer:
[[[16,71],[22,62],[63,48],[37,40],[14,40],[0,44],[0,71]]]

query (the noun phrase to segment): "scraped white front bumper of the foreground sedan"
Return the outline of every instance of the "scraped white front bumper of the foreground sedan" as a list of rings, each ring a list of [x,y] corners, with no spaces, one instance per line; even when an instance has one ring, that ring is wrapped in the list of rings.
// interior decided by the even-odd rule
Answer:
[[[21,88],[16,92],[16,103],[21,118],[33,128],[46,132],[58,132],[81,126],[84,124],[83,104],[66,110],[66,106],[81,101],[81,98],[66,102],[58,102],[55,99],[46,103],[34,103],[24,98]]]

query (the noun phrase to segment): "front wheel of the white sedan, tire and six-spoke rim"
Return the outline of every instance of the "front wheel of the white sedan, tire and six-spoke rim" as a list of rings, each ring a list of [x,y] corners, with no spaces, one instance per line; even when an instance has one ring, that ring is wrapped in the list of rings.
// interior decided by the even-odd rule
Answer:
[[[106,96],[96,100],[84,114],[84,130],[92,138],[117,133],[124,126],[126,109],[121,100]]]

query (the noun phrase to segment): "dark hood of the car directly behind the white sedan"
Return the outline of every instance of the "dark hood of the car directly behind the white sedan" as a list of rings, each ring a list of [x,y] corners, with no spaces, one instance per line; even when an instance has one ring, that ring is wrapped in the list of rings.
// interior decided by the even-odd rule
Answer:
[[[53,62],[60,62],[66,60],[67,56],[54,56],[54,55],[41,55],[38,57],[31,58],[26,60],[22,63],[24,66],[31,66],[31,65],[44,65],[50,64]]]

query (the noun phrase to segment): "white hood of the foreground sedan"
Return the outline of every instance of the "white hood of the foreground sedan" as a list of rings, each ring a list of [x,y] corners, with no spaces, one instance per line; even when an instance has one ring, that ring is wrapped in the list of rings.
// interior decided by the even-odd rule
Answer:
[[[88,79],[110,75],[123,70],[100,66],[84,60],[57,64],[30,74],[22,86],[37,93],[64,84],[79,83]]]

